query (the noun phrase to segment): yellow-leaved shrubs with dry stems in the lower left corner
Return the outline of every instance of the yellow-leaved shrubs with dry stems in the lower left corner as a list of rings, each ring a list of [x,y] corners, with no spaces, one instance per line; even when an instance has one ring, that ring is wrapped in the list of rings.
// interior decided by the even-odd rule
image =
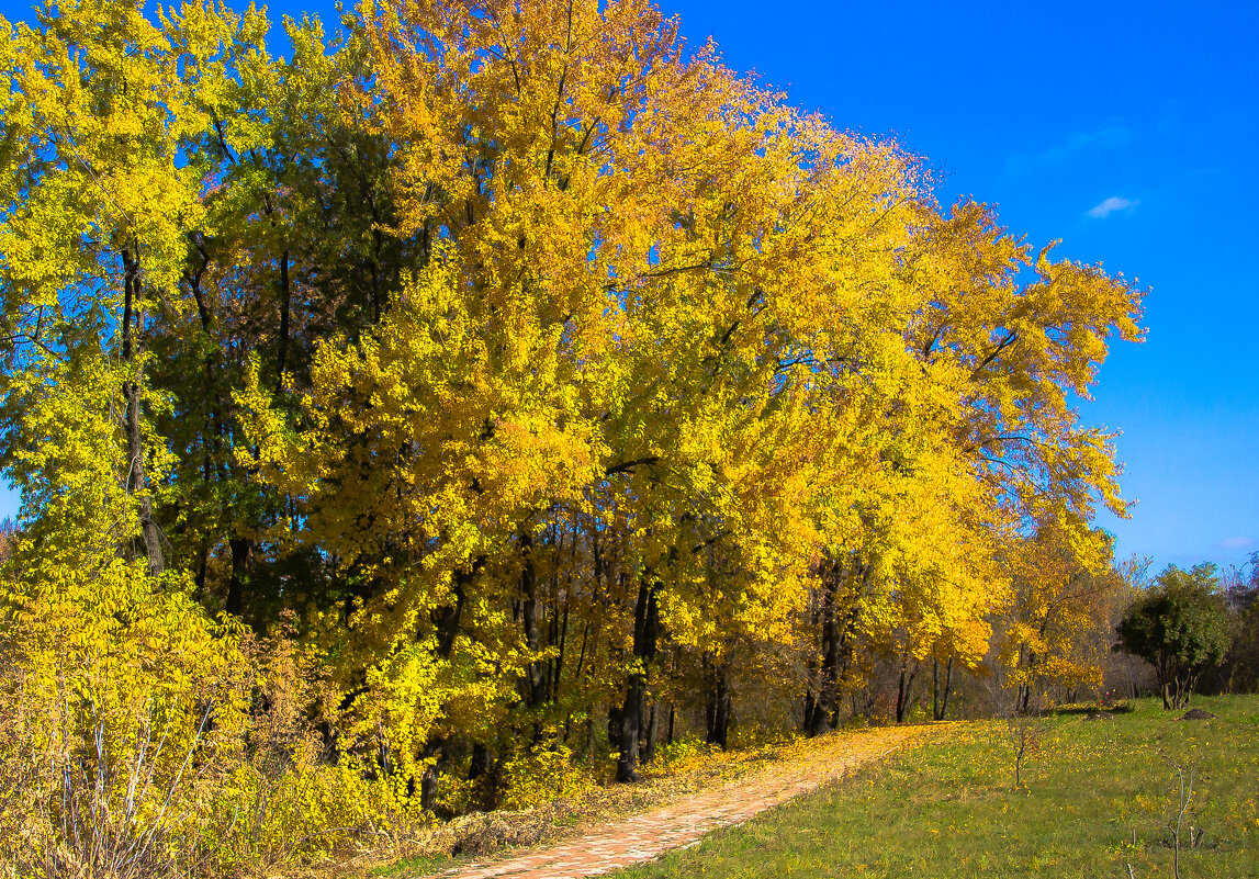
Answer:
[[[4,584],[0,875],[230,875],[415,819],[334,759],[315,656],[210,620],[186,587],[121,559]]]

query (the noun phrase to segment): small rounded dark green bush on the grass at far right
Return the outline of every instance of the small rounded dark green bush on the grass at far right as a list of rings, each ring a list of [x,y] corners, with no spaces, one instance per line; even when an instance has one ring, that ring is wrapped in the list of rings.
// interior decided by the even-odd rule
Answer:
[[[1168,565],[1157,586],[1128,608],[1118,626],[1123,650],[1155,666],[1165,708],[1185,705],[1202,671],[1229,647],[1224,596],[1215,565]]]

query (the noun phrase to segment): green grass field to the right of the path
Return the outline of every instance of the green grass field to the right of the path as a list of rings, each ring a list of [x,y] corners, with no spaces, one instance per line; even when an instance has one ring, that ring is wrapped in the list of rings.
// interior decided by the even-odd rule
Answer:
[[[1158,703],[1030,729],[958,724],[918,748],[616,879],[665,876],[1173,876],[1180,766],[1192,777],[1182,878],[1259,876],[1259,696],[1200,698],[1217,717]],[[1191,830],[1192,827],[1192,830]],[[1201,834],[1200,834],[1201,831]],[[1200,836],[1199,836],[1200,834]],[[1191,837],[1197,836],[1192,845]]]

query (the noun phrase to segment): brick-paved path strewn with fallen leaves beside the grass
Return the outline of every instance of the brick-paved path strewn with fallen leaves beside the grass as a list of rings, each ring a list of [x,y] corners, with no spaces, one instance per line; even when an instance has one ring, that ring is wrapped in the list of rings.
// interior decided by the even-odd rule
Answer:
[[[563,842],[502,860],[465,864],[436,874],[442,879],[579,879],[658,858],[718,827],[742,824],[758,812],[807,793],[832,778],[880,759],[940,727],[893,727],[818,739],[808,752],[765,767],[711,791],[658,806],[642,815],[596,826]]]

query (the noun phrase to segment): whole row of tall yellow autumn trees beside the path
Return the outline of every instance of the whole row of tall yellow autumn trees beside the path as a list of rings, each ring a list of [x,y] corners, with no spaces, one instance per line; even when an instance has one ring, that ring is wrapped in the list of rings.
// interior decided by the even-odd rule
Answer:
[[[340,24],[3,29],[4,599],[49,699],[140,638],[193,740],[287,612],[331,753],[432,806],[521,748],[632,780],[737,689],[820,732],[878,664],[898,714],[992,645],[1025,693],[1095,678],[1124,502],[1074,403],[1129,281],[645,0]]]

